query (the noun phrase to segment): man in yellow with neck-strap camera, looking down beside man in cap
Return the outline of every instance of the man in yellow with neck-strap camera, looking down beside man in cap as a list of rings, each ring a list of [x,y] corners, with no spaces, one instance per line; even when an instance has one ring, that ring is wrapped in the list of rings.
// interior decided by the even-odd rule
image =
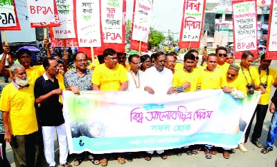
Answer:
[[[265,81],[263,79],[262,79],[262,81],[264,81],[264,82],[260,81],[261,78],[260,78],[257,68],[251,67],[251,63],[253,62],[253,57],[254,57],[254,55],[252,52],[250,52],[250,51],[243,52],[242,61],[240,63],[240,76],[244,78],[244,85],[247,87],[247,92],[249,95],[253,95],[254,90],[260,90],[262,94],[265,94],[267,92],[265,87],[267,87],[267,86],[265,86],[265,85],[264,85],[265,87],[262,86],[262,84],[264,84]],[[263,70],[263,68],[262,68],[262,70]],[[262,72],[262,74],[264,74],[264,72]],[[262,84],[260,85],[260,83],[262,83]],[[253,117],[255,117],[255,112],[251,118],[251,121],[249,122],[247,131],[245,132],[244,143],[247,142],[247,139],[249,137]],[[257,144],[256,144],[256,146],[257,146]],[[244,146],[242,144],[239,145],[239,149],[242,152],[247,151],[247,149],[244,148]]]

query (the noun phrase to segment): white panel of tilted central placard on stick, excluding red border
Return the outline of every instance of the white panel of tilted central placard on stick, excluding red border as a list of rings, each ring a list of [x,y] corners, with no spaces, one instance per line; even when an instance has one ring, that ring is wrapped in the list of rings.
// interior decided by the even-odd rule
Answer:
[[[148,43],[152,16],[152,0],[135,0],[132,39]]]

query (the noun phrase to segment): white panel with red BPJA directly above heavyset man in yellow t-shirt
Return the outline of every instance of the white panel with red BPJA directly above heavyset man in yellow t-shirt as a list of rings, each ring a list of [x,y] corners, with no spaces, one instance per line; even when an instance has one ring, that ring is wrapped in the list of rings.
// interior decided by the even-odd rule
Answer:
[[[122,43],[123,0],[101,1],[102,35],[105,43]]]

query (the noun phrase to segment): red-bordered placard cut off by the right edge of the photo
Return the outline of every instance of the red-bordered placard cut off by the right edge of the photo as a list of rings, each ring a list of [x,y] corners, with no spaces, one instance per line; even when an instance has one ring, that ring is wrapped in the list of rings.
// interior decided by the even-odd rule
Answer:
[[[267,32],[267,50],[265,52],[266,59],[277,59],[277,13],[274,12],[274,9],[276,8],[277,1],[271,0],[271,6],[269,10],[269,26]]]

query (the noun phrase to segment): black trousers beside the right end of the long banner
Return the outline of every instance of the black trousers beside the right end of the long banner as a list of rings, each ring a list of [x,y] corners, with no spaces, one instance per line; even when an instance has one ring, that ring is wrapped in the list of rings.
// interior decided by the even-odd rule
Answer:
[[[251,125],[253,122],[253,119],[256,115],[256,124],[253,130],[253,134],[251,137],[251,142],[257,142],[258,139],[260,138],[260,136],[262,135],[262,126],[264,124],[265,121],[265,116],[267,115],[267,109],[268,109],[268,104],[267,105],[262,105],[262,104],[258,104],[255,112],[253,113],[253,116],[251,118],[251,121],[249,122],[249,126],[247,128],[247,131],[245,132],[245,139],[244,139],[244,143],[247,142],[247,139],[249,137],[250,134],[250,130],[251,130]]]

